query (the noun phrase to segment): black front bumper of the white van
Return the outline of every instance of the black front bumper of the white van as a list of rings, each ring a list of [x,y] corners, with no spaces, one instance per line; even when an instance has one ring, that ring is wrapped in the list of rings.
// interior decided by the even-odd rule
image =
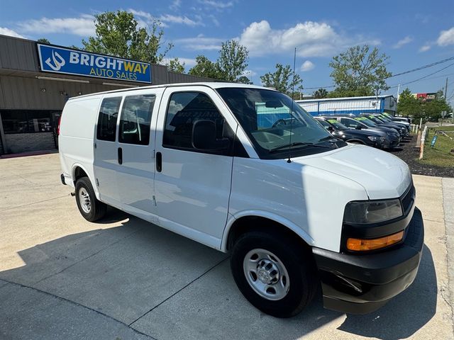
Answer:
[[[324,307],[352,314],[365,314],[382,307],[413,282],[423,242],[421,211],[414,208],[404,242],[388,250],[375,254],[341,254],[313,248]]]

